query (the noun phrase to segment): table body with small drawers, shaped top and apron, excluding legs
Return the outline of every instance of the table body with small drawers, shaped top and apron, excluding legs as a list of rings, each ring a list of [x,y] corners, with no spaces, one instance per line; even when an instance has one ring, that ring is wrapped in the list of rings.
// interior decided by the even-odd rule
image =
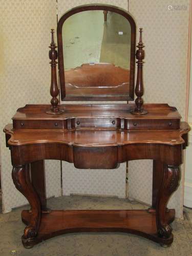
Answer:
[[[146,115],[131,114],[135,104],[66,104],[58,115],[47,114],[49,108],[26,105],[6,125],[13,164],[57,159],[112,169],[136,159],[182,163],[189,125],[167,104],[146,104]]]

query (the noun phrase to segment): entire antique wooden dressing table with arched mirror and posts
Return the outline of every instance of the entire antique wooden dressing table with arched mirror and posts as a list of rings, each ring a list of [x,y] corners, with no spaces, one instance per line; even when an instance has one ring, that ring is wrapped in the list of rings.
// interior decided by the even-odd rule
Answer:
[[[101,25],[94,23],[96,18]],[[82,20],[84,24],[83,19],[88,24],[86,29],[79,22]],[[78,26],[80,35],[73,35],[75,27],[70,26]],[[95,30],[95,26],[100,26],[97,27],[101,38],[98,41],[92,41],[88,33],[89,29]],[[136,24],[125,10],[109,5],[85,5],[68,11],[59,19],[60,97],[62,101],[77,101],[76,104],[58,104],[57,51],[53,30],[51,33],[51,105],[26,105],[18,109],[13,123],[4,129],[11,151],[13,182],[31,206],[30,210],[22,211],[22,220],[27,225],[23,245],[31,248],[43,240],[70,232],[118,231],[169,246],[173,242],[170,223],[174,221],[175,210],[166,206],[179,185],[189,126],[180,121],[175,107],[143,104],[142,29],[136,51]],[[76,43],[71,44],[74,40]],[[84,59],[71,55],[72,50],[79,51],[85,44],[88,54],[81,54],[86,55]],[[93,57],[93,49],[100,49],[99,55]],[[137,81],[134,88],[135,51]],[[117,53],[119,58],[114,57]],[[87,56],[92,56],[90,61]],[[78,103],[131,101],[134,90],[137,96],[134,104]],[[113,169],[122,162],[153,159],[152,206],[147,210],[48,209],[45,159],[67,161],[80,169]]]

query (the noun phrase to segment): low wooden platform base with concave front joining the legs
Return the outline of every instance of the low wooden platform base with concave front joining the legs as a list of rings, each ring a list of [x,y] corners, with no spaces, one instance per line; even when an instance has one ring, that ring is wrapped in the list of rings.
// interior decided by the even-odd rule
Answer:
[[[31,213],[23,210],[22,220],[28,225]],[[167,222],[175,219],[175,210],[167,212]],[[158,237],[155,210],[51,210],[42,212],[37,236],[32,239],[22,238],[26,248],[43,240],[64,233],[73,232],[127,232],[150,239],[163,246],[173,242],[173,235],[168,239]]]

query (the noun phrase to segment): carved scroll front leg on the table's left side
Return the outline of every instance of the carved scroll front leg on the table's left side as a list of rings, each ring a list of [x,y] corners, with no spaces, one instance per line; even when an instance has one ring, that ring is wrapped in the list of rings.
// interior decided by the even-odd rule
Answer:
[[[29,164],[14,166],[12,170],[12,178],[15,187],[27,198],[31,205],[30,223],[25,228],[22,237],[23,245],[26,248],[31,248],[35,244],[41,215],[40,200],[31,184],[29,172]]]

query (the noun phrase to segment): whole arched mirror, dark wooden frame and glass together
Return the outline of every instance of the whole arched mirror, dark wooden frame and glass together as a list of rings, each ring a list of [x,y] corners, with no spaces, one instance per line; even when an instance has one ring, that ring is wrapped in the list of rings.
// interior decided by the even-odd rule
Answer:
[[[136,25],[125,10],[79,6],[58,22],[61,100],[133,100]]]

